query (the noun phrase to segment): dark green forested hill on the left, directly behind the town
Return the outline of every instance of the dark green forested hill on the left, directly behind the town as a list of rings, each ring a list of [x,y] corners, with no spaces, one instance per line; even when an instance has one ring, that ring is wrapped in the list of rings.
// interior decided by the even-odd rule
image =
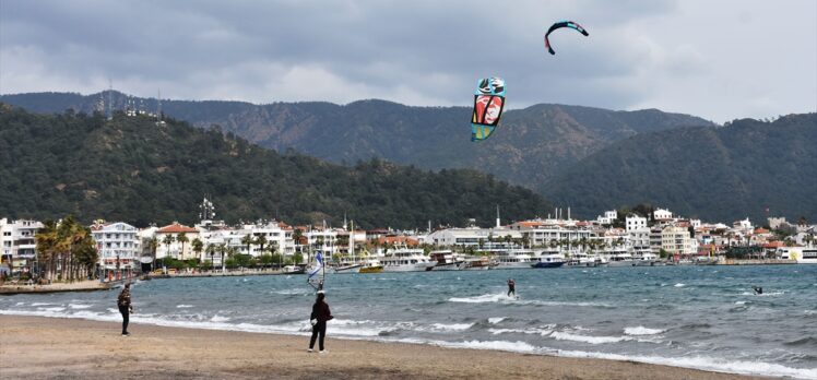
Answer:
[[[362,228],[493,225],[497,206],[506,219],[550,209],[542,195],[475,170],[381,159],[340,166],[171,118],[37,115],[0,104],[2,216],[190,224],[205,195],[228,223],[340,226],[347,216]]]

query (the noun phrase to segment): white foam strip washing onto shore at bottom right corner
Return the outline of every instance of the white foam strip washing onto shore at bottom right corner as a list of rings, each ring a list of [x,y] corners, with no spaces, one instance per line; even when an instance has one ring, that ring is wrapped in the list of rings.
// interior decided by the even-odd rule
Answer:
[[[600,358],[609,360],[640,361],[683,368],[696,368],[714,372],[731,372],[754,376],[791,377],[795,379],[817,379],[817,369],[791,368],[778,364],[761,361],[727,361],[712,357],[660,357],[642,355],[619,355],[605,353],[585,353],[580,351],[559,351],[558,356],[578,358]]]

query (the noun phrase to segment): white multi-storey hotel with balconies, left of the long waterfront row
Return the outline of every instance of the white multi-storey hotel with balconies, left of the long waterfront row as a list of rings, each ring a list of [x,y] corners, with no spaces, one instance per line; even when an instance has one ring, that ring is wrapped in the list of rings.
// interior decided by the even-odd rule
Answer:
[[[142,238],[137,227],[122,222],[99,223],[91,226],[91,235],[96,241],[100,268],[109,270],[139,268]]]

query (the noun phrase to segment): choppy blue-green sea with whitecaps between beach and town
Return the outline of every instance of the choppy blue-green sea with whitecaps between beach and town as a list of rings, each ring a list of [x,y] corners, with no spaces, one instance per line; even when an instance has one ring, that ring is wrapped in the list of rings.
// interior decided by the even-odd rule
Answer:
[[[327,274],[324,289],[330,337],[817,379],[817,265]],[[121,321],[118,293],[2,296],[0,314]],[[297,274],[131,293],[132,323],[303,335],[306,348],[316,290]]]

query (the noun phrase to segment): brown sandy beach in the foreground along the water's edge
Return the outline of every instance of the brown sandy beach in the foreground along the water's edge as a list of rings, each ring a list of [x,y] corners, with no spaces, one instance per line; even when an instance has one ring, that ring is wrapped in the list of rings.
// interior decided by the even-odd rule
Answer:
[[[3,379],[751,379],[677,367],[308,337],[0,316]]]

